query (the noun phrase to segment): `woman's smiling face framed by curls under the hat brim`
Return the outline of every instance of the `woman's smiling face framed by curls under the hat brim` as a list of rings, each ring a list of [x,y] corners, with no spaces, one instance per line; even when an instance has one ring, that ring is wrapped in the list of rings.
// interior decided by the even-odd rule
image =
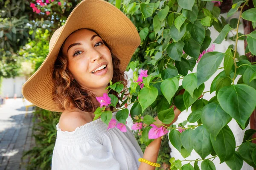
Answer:
[[[111,52],[93,31],[80,29],[67,38],[62,54],[68,58],[72,79],[83,88],[106,88],[113,77]]]

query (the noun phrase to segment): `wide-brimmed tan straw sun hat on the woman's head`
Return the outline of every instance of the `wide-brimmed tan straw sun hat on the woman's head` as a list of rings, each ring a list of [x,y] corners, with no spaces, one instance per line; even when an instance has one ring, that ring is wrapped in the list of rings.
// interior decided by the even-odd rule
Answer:
[[[52,35],[49,54],[40,68],[22,86],[22,94],[29,102],[49,111],[63,112],[52,100],[53,66],[65,39],[81,28],[95,30],[102,40],[107,42],[113,54],[120,59],[122,71],[140,45],[137,29],[118,8],[104,0],[81,1],[73,9],[64,26]]]

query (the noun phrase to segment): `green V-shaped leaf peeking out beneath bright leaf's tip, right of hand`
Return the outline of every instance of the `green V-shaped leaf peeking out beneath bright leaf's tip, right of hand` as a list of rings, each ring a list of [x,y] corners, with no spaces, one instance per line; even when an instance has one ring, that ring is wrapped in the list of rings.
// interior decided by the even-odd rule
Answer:
[[[183,101],[185,103],[186,109],[188,109],[189,106],[191,106],[198,99],[198,97],[201,96],[203,91],[204,91],[204,83],[194,90],[193,96],[191,96],[188,91],[184,92]]]

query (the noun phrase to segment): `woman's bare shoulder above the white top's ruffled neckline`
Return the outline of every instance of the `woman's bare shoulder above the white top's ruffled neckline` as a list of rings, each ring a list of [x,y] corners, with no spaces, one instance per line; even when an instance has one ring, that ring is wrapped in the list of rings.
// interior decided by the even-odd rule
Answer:
[[[88,112],[65,110],[61,113],[59,127],[62,131],[72,132],[76,130],[76,127],[85,125],[92,120]]]

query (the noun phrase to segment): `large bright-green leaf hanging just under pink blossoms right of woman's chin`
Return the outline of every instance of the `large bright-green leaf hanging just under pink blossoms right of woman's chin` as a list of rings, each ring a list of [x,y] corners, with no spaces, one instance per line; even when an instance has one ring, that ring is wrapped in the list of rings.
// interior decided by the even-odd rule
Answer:
[[[150,106],[155,99],[157,99],[157,88],[151,86],[150,88],[144,87],[138,94],[139,102],[142,107],[142,112]]]

